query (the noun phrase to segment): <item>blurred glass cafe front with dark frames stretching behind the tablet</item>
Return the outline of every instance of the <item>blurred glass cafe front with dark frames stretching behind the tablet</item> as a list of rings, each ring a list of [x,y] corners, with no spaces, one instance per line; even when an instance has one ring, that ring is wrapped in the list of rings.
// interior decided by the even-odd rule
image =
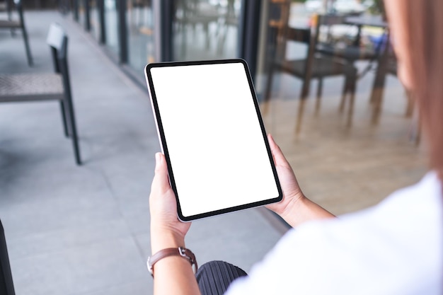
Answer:
[[[143,89],[149,62],[245,59],[267,132],[306,195],[335,214],[376,204],[426,170],[418,115],[396,76],[381,0],[24,0],[23,6],[58,9]]]

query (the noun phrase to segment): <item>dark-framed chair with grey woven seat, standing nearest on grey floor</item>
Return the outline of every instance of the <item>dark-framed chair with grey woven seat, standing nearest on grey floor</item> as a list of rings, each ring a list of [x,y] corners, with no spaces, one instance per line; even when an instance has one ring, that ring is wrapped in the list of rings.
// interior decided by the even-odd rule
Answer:
[[[47,35],[55,73],[0,74],[0,103],[59,100],[64,134],[71,137],[76,163],[81,164],[67,61],[68,37],[57,23]]]

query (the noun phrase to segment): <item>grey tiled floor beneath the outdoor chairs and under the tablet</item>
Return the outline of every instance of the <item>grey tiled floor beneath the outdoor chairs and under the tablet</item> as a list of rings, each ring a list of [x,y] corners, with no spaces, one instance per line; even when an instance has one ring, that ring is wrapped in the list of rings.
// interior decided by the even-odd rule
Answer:
[[[151,294],[148,197],[159,144],[146,91],[71,18],[25,18],[35,66],[21,36],[2,31],[0,72],[52,71],[45,37],[52,21],[62,24],[84,165],[74,164],[57,103],[0,105],[0,219],[16,294]],[[195,221],[188,247],[200,263],[249,270],[282,235],[272,224],[262,209]]]

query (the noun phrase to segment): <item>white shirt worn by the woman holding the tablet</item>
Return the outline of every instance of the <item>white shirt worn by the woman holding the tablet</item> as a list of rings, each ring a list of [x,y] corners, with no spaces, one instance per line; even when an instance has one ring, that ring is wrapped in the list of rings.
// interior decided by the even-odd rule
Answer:
[[[226,295],[442,295],[442,200],[430,172],[375,207],[302,224]]]

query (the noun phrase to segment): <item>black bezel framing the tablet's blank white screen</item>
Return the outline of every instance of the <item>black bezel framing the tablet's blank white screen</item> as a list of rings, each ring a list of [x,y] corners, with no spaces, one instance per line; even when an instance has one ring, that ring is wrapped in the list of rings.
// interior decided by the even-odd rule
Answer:
[[[162,122],[161,122],[159,105],[157,103],[154,83],[153,83],[153,79],[152,79],[152,76],[151,76],[151,69],[156,68],[156,67],[194,66],[194,65],[207,65],[207,64],[231,64],[231,63],[237,63],[237,64],[241,63],[241,64],[243,64],[243,68],[245,69],[245,73],[246,73],[246,76],[247,76],[247,79],[248,79],[248,83],[249,83],[249,88],[250,88],[250,91],[251,91],[251,96],[253,98],[253,102],[254,102],[254,105],[255,105],[255,113],[258,116],[258,122],[260,123],[260,128],[261,128],[261,132],[262,132],[262,135],[263,135],[263,141],[265,142],[265,146],[266,146],[266,150],[267,150],[267,155],[269,157],[270,166],[272,168],[272,173],[274,175],[275,185],[276,185],[277,191],[278,191],[278,197],[271,198],[271,199],[264,199],[262,201],[252,202],[252,203],[238,205],[238,206],[234,206],[234,207],[219,209],[219,210],[215,210],[215,211],[211,211],[211,212],[205,212],[205,213],[202,213],[202,214],[195,214],[195,215],[192,215],[192,216],[183,216],[183,214],[181,212],[181,208],[180,208],[180,200],[179,200],[179,197],[178,197],[176,181],[175,181],[173,170],[172,170],[172,166],[171,166],[171,160],[170,160],[169,154],[168,154],[168,145],[166,144],[166,137],[165,137],[164,130],[163,130],[163,125],[162,125]],[[209,216],[214,216],[214,215],[219,215],[219,214],[224,214],[224,213],[229,213],[229,212],[235,212],[235,211],[238,211],[238,210],[249,209],[249,208],[253,208],[253,207],[259,207],[259,206],[263,206],[263,205],[266,205],[266,204],[272,204],[272,203],[275,203],[275,202],[280,202],[282,200],[282,198],[283,198],[282,188],[280,186],[280,181],[279,181],[278,176],[277,176],[277,170],[275,168],[275,163],[274,163],[274,159],[272,157],[272,153],[271,153],[271,150],[270,150],[269,142],[267,141],[267,135],[266,135],[266,132],[265,132],[265,125],[263,124],[263,119],[262,119],[262,116],[260,114],[260,107],[258,105],[257,96],[255,94],[255,89],[254,89],[254,86],[253,86],[253,81],[251,79],[251,73],[249,71],[248,64],[246,63],[246,61],[244,59],[215,59],[215,60],[192,61],[192,62],[158,62],[158,63],[151,63],[151,64],[147,64],[145,66],[144,74],[145,74],[145,78],[146,78],[146,83],[148,85],[149,97],[151,98],[151,106],[152,106],[152,110],[154,112],[154,119],[156,121],[156,127],[157,127],[157,132],[159,134],[159,140],[160,140],[161,148],[163,149],[163,154],[165,155],[166,163],[167,163],[167,166],[168,166],[169,181],[171,183],[171,188],[172,188],[173,192],[176,195],[178,218],[181,221],[192,221],[192,220],[195,220],[195,219],[202,219],[202,218],[209,217]]]

